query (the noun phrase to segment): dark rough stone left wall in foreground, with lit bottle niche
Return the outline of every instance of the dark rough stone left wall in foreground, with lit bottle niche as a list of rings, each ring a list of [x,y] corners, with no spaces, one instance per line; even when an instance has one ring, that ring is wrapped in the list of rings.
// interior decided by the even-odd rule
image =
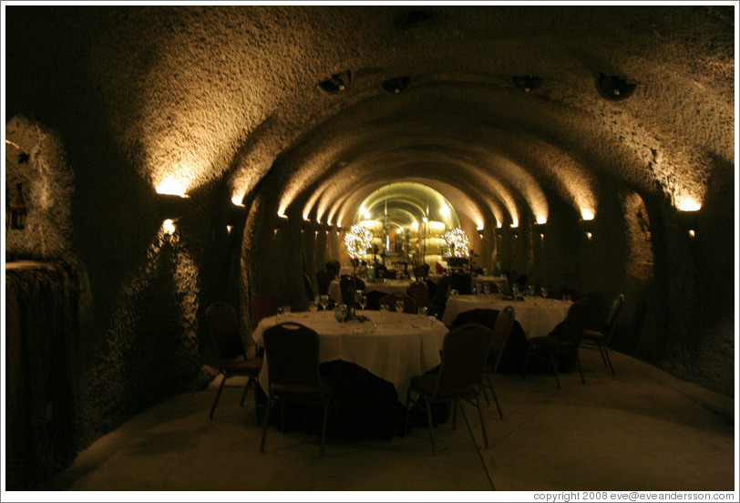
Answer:
[[[43,18],[35,29],[60,31]],[[34,35],[28,34],[29,40],[35,41]],[[23,389],[24,375],[37,371],[36,361],[54,360],[65,379],[62,391],[54,392],[54,412],[45,404],[8,412],[30,415],[34,428],[46,428],[44,435],[8,431],[18,432],[22,442],[8,458],[18,489],[54,475],[77,452],[148,406],[210,382],[215,352],[200,315],[203,304],[218,296],[224,284],[220,266],[228,263],[225,225],[220,233],[213,225],[224,221],[225,207],[202,206],[206,200],[211,208],[212,189],[200,200],[193,197],[175,234],[164,234],[157,196],[132,168],[143,153],[122,152],[111,139],[86,65],[60,65],[70,57],[59,54],[61,42],[60,47],[39,44],[23,74],[28,88],[14,95],[11,106],[23,112],[6,122],[8,138],[31,154],[20,164],[7,149],[5,181],[15,189],[12,181],[24,178],[29,216],[26,231],[8,231],[6,252],[61,261],[73,280],[8,275],[7,293],[22,292],[15,296],[17,311],[39,316],[38,323],[20,323],[19,335],[8,341],[16,353],[17,344],[38,342],[24,346],[33,354],[17,360],[8,385]],[[87,48],[77,48],[70,54],[84,60]],[[53,69],[53,76],[44,67]],[[58,87],[53,98],[46,86]],[[47,318],[53,314],[47,308],[50,296],[67,299],[67,306],[53,313],[69,320]],[[46,337],[55,330],[64,345],[52,348]],[[57,411],[64,411],[63,421],[57,422]],[[53,431],[45,423],[48,414],[54,416]]]

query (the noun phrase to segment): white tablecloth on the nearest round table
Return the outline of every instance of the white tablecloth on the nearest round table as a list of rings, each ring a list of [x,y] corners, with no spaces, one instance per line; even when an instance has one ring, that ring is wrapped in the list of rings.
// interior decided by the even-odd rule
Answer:
[[[439,351],[447,327],[416,314],[387,313],[385,322],[378,311],[360,312],[376,323],[374,334],[365,334],[365,323],[339,323],[334,313],[290,313],[281,321],[295,322],[313,328],[319,334],[321,363],[344,360],[357,364],[372,374],[393,383],[398,399],[406,401],[406,392],[415,375],[421,375],[441,363]],[[264,318],[254,330],[252,339],[264,346],[264,331],[275,324],[275,317]],[[267,393],[268,361],[260,373],[260,385]]]

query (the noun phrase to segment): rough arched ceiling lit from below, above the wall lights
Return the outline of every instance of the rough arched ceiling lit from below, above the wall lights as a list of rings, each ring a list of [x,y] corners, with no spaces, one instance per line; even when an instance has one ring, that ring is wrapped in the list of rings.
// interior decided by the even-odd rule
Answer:
[[[137,6],[70,22],[87,30],[109,127],[122,151],[140,150],[153,187],[227,177],[241,200],[268,176],[278,212],[345,224],[383,184],[418,181],[477,225],[516,225],[546,221],[551,197],[598,213],[600,180],[681,206],[701,204],[713,176],[732,176],[717,166],[735,163],[735,15]],[[318,86],[344,71],[344,91]],[[600,74],[636,89],[603,98]],[[513,77],[528,75],[541,84],[525,92]],[[403,92],[381,86],[394,77],[409,77]]]

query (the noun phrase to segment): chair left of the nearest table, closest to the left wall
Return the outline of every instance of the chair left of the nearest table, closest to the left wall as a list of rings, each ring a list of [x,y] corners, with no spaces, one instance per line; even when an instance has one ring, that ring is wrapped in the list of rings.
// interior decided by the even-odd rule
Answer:
[[[236,313],[231,304],[217,301],[211,303],[206,309],[206,319],[211,330],[211,335],[216,343],[219,354],[221,385],[216,393],[216,399],[211,406],[209,418],[213,419],[216,411],[216,405],[221,398],[221,392],[224,387],[243,387],[242,401],[240,406],[244,405],[244,398],[247,396],[250,386],[254,388],[254,408],[257,411],[257,424],[260,424],[259,404],[257,402],[256,383],[258,375],[262,370],[262,357],[248,358],[242,343],[242,335],[239,330]],[[247,377],[246,385],[226,385],[226,381],[231,377]]]

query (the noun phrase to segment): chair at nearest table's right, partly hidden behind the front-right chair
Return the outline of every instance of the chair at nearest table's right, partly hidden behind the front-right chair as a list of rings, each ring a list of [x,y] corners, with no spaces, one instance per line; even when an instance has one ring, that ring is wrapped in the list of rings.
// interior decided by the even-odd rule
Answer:
[[[509,342],[509,334],[511,334],[511,329],[514,326],[514,308],[508,305],[500,312],[495,309],[464,311],[457,314],[457,318],[455,318],[452,326],[454,328],[468,323],[480,323],[493,331],[493,340],[490,351],[488,352],[487,368],[484,374],[483,396],[486,398],[486,404],[490,405],[488,395],[486,394],[486,389],[490,389],[491,395],[493,395],[493,401],[496,403],[496,408],[498,408],[498,416],[503,419],[504,413],[501,410],[501,405],[498,404],[498,396],[496,395],[496,390],[493,389],[490,375],[496,375],[498,372],[498,364],[501,363],[501,356],[503,356],[506,344]]]

